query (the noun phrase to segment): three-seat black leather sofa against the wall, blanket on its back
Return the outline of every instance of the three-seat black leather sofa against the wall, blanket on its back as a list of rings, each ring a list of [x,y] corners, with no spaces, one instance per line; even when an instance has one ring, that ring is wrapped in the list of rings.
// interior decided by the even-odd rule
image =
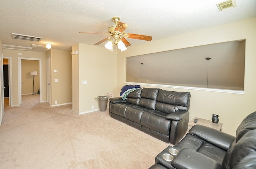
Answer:
[[[166,143],[178,143],[188,128],[189,92],[140,88],[128,94],[126,100],[109,100],[112,118]]]

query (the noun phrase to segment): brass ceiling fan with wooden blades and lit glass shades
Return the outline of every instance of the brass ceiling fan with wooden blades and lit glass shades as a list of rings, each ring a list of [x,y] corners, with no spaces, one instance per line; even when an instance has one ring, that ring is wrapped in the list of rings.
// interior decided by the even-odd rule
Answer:
[[[131,44],[125,39],[125,38],[132,38],[132,39],[139,39],[144,41],[151,41],[151,36],[146,35],[138,35],[133,33],[125,33],[124,30],[128,27],[128,24],[119,22],[119,17],[113,17],[112,20],[115,22],[115,25],[108,27],[108,33],[95,33],[95,32],[79,32],[79,33],[95,33],[95,34],[104,34],[104,35],[110,35],[109,37],[106,37],[105,39],[102,39],[101,41],[95,43],[94,45],[99,45],[100,43],[103,43],[104,41],[109,40],[105,47],[113,51],[113,46],[118,46],[118,49],[121,49],[121,51],[126,50],[128,46]]]

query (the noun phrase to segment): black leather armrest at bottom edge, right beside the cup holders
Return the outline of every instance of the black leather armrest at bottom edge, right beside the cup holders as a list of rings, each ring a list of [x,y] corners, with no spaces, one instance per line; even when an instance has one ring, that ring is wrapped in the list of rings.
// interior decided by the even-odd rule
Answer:
[[[176,169],[222,169],[217,161],[188,148],[182,149],[171,164]]]

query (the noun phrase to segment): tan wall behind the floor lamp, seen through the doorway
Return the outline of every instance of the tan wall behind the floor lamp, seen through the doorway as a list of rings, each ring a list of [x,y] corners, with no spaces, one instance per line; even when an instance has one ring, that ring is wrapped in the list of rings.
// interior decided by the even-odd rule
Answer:
[[[32,94],[33,92],[37,93],[40,88],[39,82],[39,61],[35,60],[21,60],[21,81],[22,81],[22,90],[21,94]],[[30,76],[31,71],[36,71],[37,76],[34,76],[34,91],[33,91],[33,77]]]

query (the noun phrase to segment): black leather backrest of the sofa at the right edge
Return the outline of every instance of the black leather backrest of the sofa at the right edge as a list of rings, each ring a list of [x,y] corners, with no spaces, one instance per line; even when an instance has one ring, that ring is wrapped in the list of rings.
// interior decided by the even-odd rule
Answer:
[[[223,159],[224,169],[250,168],[256,166],[256,112],[249,114],[236,130],[236,139]],[[253,161],[249,161],[254,157]],[[241,166],[241,167],[240,167]]]

